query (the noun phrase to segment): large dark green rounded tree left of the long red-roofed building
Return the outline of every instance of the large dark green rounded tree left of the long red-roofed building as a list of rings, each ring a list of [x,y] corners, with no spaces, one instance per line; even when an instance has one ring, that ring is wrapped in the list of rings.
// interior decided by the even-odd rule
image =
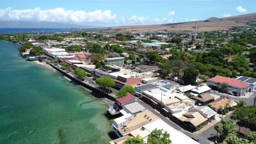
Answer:
[[[195,85],[196,77],[199,74],[199,71],[194,67],[189,67],[184,70],[184,85]]]

